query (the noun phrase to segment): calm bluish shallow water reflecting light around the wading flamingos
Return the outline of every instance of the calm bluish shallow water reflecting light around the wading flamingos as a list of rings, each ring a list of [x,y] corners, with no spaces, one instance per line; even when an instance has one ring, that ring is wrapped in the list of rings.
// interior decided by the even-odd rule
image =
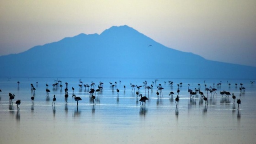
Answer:
[[[96,105],[89,97],[89,90],[79,89],[80,78],[59,78],[63,87],[53,89],[54,78],[0,78],[0,144],[7,143],[235,143],[255,144],[256,142],[256,84],[250,80],[196,80],[196,79],[127,79],[127,78],[81,78],[83,84],[91,81],[99,85],[103,82],[103,91],[96,94]],[[17,84],[17,81],[20,84]],[[119,82],[121,80],[121,82]],[[147,96],[145,108],[140,107],[134,85],[153,85],[153,90],[140,88],[140,94]],[[168,81],[174,85],[169,85]],[[109,82],[117,82],[114,90]],[[221,87],[217,83],[222,81]],[[36,84],[38,82],[38,84]],[[69,83],[68,104],[64,101],[65,82]],[[166,82],[166,83],[165,83]],[[180,101],[177,108],[175,98],[177,84],[180,86]],[[46,85],[49,96],[46,96]],[[205,86],[218,89],[217,97],[208,93],[208,106],[197,94],[190,98],[187,85],[194,90],[201,85],[201,91],[207,96]],[[228,83],[231,85],[229,86]],[[235,83],[238,85],[235,86]],[[240,91],[240,83],[246,88]],[[31,90],[33,84],[36,91]],[[161,84],[162,96],[156,96],[157,86]],[[124,91],[123,85],[126,85]],[[74,94],[80,96],[76,107]],[[117,96],[116,89],[119,89]],[[225,98],[219,91],[229,91],[241,100],[240,111],[233,104],[232,96]],[[170,91],[175,94],[169,96]],[[9,104],[9,92],[15,94],[13,102],[21,99],[20,111],[16,104]],[[56,104],[52,106],[53,95]],[[31,96],[35,97],[34,105]]]

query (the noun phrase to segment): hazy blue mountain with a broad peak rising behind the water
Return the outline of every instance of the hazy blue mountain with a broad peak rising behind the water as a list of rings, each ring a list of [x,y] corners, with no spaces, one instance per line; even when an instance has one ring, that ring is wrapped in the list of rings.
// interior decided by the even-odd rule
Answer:
[[[1,77],[256,78],[256,67],[167,48],[128,26],[1,56],[0,64]]]

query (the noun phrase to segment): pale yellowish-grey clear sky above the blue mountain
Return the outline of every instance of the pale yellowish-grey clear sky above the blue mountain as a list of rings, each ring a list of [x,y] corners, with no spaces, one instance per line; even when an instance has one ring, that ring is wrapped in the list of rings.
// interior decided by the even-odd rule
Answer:
[[[0,0],[0,56],[122,25],[168,48],[256,67],[256,0]]]

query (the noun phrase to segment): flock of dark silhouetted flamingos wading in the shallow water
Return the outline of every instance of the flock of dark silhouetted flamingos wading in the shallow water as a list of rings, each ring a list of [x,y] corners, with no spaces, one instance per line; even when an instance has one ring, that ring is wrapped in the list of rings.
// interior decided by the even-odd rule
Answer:
[[[154,83],[156,84],[156,81],[157,81],[157,80],[155,80],[155,82],[152,81],[152,84],[151,84],[150,86],[147,84],[147,81],[144,81],[144,82],[143,82],[143,85],[139,85],[139,86],[138,86],[138,85],[133,85],[132,83],[130,83],[130,87],[132,88],[132,91],[135,92],[135,87],[137,88],[136,95],[137,95],[137,97],[138,97],[138,95],[139,95],[139,97],[140,97],[140,100],[139,100],[139,101],[140,101],[140,107],[145,107],[146,100],[149,100],[148,97],[143,96],[142,94],[139,93],[140,88],[141,88],[141,87],[144,87],[145,93],[146,93],[146,90],[148,89],[148,93],[149,93],[149,89],[150,89],[151,91],[153,91],[153,85],[154,85]],[[121,81],[119,81],[119,83],[121,83]],[[165,83],[166,83],[166,82],[165,82]],[[169,85],[171,85],[171,87],[174,85],[172,81],[168,81],[168,83],[169,83]],[[205,81],[204,81],[204,83],[205,83]],[[253,83],[254,83],[254,81],[251,81],[251,84],[253,84]],[[17,81],[17,84],[19,85],[20,82]],[[38,83],[37,83],[37,84],[38,84]],[[117,82],[115,82],[115,84],[113,84],[112,82],[109,82],[109,84],[110,84],[110,87],[112,88],[112,91],[114,91],[114,87],[117,85]],[[88,91],[89,91],[89,88],[90,88],[89,97],[93,100],[93,103],[94,103],[94,105],[95,105],[95,104],[96,104],[96,103],[95,103],[95,101],[96,101],[96,100],[95,100],[95,99],[96,99],[96,93],[97,93],[97,96],[98,96],[98,93],[99,93],[100,91],[103,91],[103,85],[104,85],[104,83],[102,83],[102,82],[100,81],[100,82],[99,82],[99,85],[98,85],[98,89],[95,90],[96,84],[95,84],[94,82],[91,82],[91,85],[88,85],[88,84],[83,85],[83,82],[82,82],[81,80],[79,80],[79,85],[78,85],[78,86],[79,86],[79,89],[82,89],[83,86],[84,86],[84,87],[85,87],[85,90],[86,90],[86,88],[87,88]],[[208,105],[208,92],[210,93],[211,96],[212,96],[212,93],[213,93],[213,98],[214,98],[214,95],[215,95],[215,97],[217,96],[217,92],[216,92],[216,91],[218,91],[218,90],[217,90],[216,88],[214,88],[214,85],[215,85],[215,84],[213,84],[213,88],[212,88],[212,86],[210,86],[210,87],[208,88],[208,87],[206,87],[207,85],[205,84],[205,89],[204,89],[204,90],[207,92],[207,96],[204,96],[203,92],[201,91],[201,85],[200,85],[200,84],[198,84],[198,89],[195,88],[195,91],[193,91],[192,89],[190,89],[190,88],[189,88],[190,84],[188,84],[188,85],[187,85],[188,95],[189,95],[189,97],[190,97],[191,99],[193,99],[195,95],[199,94],[200,97],[203,98],[203,100],[205,101],[205,105]],[[237,84],[235,84],[235,85],[237,86]],[[46,96],[49,96],[49,92],[51,92],[51,91],[48,89],[48,86],[49,86],[49,85],[46,84],[46,88],[45,88]],[[59,86],[60,88],[62,88],[62,87],[63,87],[62,81],[61,81],[61,80],[58,80],[58,81],[55,80],[55,82],[54,82],[54,84],[53,84],[52,86],[53,86],[53,89],[54,89],[55,87],[58,87],[58,86]],[[68,99],[68,97],[69,97],[69,95],[68,95],[68,91],[69,91],[69,90],[68,90],[68,86],[69,86],[68,83],[65,82],[65,89],[64,89],[65,94],[64,94],[64,99],[65,99],[66,104],[68,104],[67,99]],[[178,102],[179,102],[179,93],[180,93],[180,87],[181,87],[181,86],[182,86],[182,83],[177,84],[177,96],[176,96],[176,98],[175,98],[175,101],[176,101],[176,108],[177,108],[177,105],[178,105]],[[217,87],[220,87],[220,86],[221,86],[221,82],[217,84]],[[229,84],[229,86],[230,86],[230,84]],[[162,87],[161,84],[159,84],[159,85],[157,86],[157,89],[156,89],[156,96],[157,96],[157,97],[163,96],[163,93],[162,93],[162,90],[163,90],[163,89],[164,89],[164,88]],[[125,86],[125,85],[123,85],[123,90],[124,90],[124,91],[126,90],[126,86]],[[36,91],[36,88],[33,86],[33,84],[31,84],[31,91],[33,91],[34,93],[35,93],[35,91]],[[78,101],[81,101],[82,99],[81,99],[79,96],[76,96],[76,95],[74,94],[74,91],[75,91],[75,88],[74,88],[74,87],[72,87],[72,91],[73,91],[72,97],[74,97],[74,100],[77,101],[77,105],[76,105],[76,106],[78,107]],[[116,91],[117,91],[117,97],[118,97],[118,96],[119,96],[119,89],[117,88]],[[240,91],[245,91],[245,87],[243,87],[243,84],[242,84],[242,83],[240,83]],[[1,92],[1,90],[0,90],[0,92]],[[222,97],[223,97],[223,96],[225,96],[225,97],[231,96],[230,92],[228,92],[228,91],[220,91],[219,93],[220,93],[220,95],[221,95]],[[169,94],[169,96],[171,96],[171,98],[172,98],[173,95],[174,95],[174,92],[171,91],[170,94]],[[9,93],[9,97],[10,97],[10,98],[9,98],[9,104],[12,105],[12,104],[13,104],[12,100],[15,98],[15,95]],[[232,98],[234,99],[234,105],[235,105],[236,96],[234,95],[234,93],[232,93]],[[32,97],[31,97],[32,105],[34,105],[34,99],[35,99],[35,97],[32,96]],[[56,97],[55,97],[55,95],[53,95],[53,103],[54,103],[54,105],[55,105],[55,101],[56,101]],[[53,105],[53,103],[52,103],[52,105]],[[239,111],[239,105],[241,104],[241,100],[240,100],[240,99],[237,99],[236,103],[238,104],[238,111]],[[17,100],[17,101],[16,101],[16,105],[17,105],[17,110],[18,110],[18,111],[20,110],[20,108],[18,107],[18,105],[20,105],[20,104],[21,104],[21,100]]]

